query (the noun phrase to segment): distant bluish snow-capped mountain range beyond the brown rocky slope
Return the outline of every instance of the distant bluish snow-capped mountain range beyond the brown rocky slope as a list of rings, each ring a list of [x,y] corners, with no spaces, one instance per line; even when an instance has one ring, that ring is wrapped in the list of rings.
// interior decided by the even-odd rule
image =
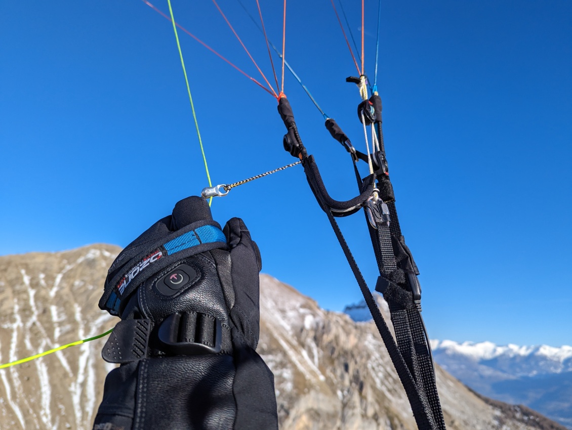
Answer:
[[[376,300],[387,308],[382,297]],[[365,301],[344,312],[354,321],[371,320]],[[474,391],[526,405],[572,429],[572,347],[452,340],[432,340],[431,347],[435,362]]]

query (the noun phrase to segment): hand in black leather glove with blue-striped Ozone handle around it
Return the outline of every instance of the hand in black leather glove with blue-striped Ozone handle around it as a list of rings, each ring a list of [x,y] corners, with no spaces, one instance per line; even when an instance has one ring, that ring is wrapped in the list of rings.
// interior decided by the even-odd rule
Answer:
[[[120,316],[102,356],[93,429],[277,429],[259,339],[260,252],[244,222],[224,230],[188,197],[113,262],[100,308]]]

